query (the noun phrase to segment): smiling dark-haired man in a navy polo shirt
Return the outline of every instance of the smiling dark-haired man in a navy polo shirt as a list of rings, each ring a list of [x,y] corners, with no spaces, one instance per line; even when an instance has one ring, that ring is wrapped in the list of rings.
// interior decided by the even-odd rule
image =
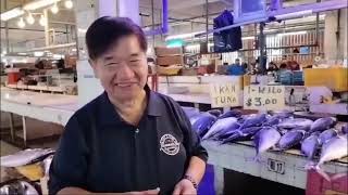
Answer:
[[[197,194],[207,151],[181,106],[147,86],[147,40],[128,18],[86,32],[104,92],[69,120],[50,168],[50,194]]]

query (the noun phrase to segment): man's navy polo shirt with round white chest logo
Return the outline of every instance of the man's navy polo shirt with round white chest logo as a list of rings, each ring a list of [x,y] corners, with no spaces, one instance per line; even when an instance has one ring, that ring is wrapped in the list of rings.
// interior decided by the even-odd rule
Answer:
[[[207,161],[179,105],[146,91],[148,105],[137,127],[121,118],[105,92],[71,117],[50,167],[50,194],[67,186],[102,193],[160,187],[160,194],[171,194],[191,156]]]

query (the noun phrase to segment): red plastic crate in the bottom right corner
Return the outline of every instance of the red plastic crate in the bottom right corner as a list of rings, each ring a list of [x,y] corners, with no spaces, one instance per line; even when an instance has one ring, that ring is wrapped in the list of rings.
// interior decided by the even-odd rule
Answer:
[[[332,173],[327,173],[333,176]],[[348,177],[327,181],[314,170],[307,172],[306,195],[345,195],[348,194]]]

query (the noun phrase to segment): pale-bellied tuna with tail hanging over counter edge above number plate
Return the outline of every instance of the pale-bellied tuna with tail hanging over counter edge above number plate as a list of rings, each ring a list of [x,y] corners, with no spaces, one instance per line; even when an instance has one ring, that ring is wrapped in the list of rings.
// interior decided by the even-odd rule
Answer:
[[[259,155],[273,147],[281,140],[281,133],[273,127],[262,128],[253,139],[257,151],[256,160],[259,161]]]

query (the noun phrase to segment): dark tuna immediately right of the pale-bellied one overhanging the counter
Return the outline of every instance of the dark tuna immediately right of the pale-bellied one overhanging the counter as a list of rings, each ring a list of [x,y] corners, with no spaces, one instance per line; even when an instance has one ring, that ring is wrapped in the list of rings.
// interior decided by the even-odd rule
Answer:
[[[293,146],[299,144],[306,134],[304,130],[291,130],[286,132],[278,142],[278,147],[281,151],[291,148]]]

